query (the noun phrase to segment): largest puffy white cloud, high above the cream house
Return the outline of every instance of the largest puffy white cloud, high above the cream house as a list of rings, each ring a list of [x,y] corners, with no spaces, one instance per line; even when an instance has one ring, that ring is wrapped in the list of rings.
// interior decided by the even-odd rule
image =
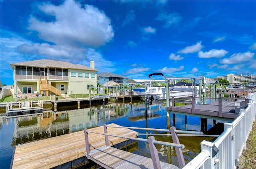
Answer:
[[[28,20],[28,29],[37,31],[45,41],[74,47],[99,47],[114,36],[110,19],[94,6],[81,8],[74,1],[65,1],[59,6],[42,4],[38,8],[55,17],[53,22],[44,22],[35,16]]]

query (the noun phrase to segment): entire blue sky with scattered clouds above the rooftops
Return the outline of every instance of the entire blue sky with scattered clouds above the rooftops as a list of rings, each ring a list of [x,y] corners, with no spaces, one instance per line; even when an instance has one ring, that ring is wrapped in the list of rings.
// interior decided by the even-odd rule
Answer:
[[[256,1],[0,1],[10,63],[54,59],[130,79],[256,73]]]

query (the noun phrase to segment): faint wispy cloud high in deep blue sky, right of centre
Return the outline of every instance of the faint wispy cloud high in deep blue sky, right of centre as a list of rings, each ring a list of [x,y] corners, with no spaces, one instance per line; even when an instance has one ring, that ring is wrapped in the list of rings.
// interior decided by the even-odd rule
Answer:
[[[160,20],[164,22],[164,28],[170,28],[173,24],[178,24],[182,17],[178,13],[167,14],[166,12],[162,12],[158,15],[156,20]]]

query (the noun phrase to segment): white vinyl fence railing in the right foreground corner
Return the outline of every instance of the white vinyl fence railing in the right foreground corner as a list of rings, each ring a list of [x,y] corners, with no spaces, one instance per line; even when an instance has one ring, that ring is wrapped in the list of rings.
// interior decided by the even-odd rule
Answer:
[[[256,92],[247,98],[251,99],[247,108],[232,123],[224,124],[224,132],[214,142],[202,141],[201,152],[182,169],[236,169],[256,120]]]

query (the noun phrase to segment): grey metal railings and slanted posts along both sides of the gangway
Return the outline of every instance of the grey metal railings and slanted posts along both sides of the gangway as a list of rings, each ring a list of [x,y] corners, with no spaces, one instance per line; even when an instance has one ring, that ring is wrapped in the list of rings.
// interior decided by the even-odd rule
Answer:
[[[170,132],[172,134],[172,140],[174,141],[174,143],[165,142],[165,141],[157,141],[157,140],[155,140],[155,138],[153,136],[149,136],[148,139],[143,139],[143,138],[131,138],[131,137],[112,135],[112,134],[108,134],[108,132],[107,132],[107,128],[108,127],[111,127],[111,128],[127,128],[127,129],[138,129],[138,130],[152,130],[152,131]],[[106,124],[104,124],[104,132],[105,133],[97,133],[97,132],[91,132],[91,131],[88,131],[87,129],[84,129],[85,141],[86,141],[86,154],[85,155],[86,155],[86,157],[88,159],[90,159],[90,144],[89,144],[89,140],[88,140],[88,133],[101,134],[101,135],[105,135],[106,146],[109,146],[108,136],[124,138],[124,139],[129,139],[129,140],[135,140],[135,141],[144,141],[144,142],[148,143],[149,147],[150,147],[150,153],[151,153],[151,156],[152,156],[152,162],[153,162],[154,169],[161,168],[160,160],[159,160],[159,156],[158,156],[158,151],[156,149],[155,144],[167,145],[167,146],[175,147],[176,154],[177,154],[177,157],[178,157],[178,162],[179,162],[180,168],[182,168],[182,167],[185,166],[184,157],[182,155],[182,149],[185,146],[183,144],[180,144],[180,141],[178,140],[177,133],[183,133],[183,134],[203,134],[202,132],[176,130],[175,127],[171,127],[170,130],[167,130],[167,129],[154,129],[154,128],[108,126]]]

